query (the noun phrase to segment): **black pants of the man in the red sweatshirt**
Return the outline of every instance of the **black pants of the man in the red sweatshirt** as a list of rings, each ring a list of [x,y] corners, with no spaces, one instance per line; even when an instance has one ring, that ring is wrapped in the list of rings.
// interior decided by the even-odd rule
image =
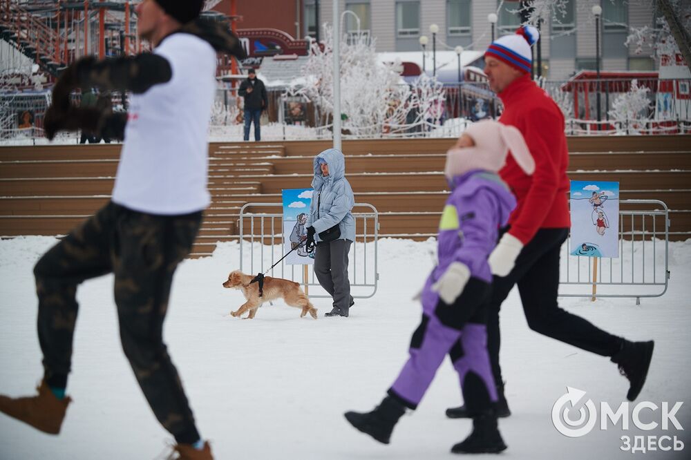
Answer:
[[[486,308],[487,349],[498,385],[502,385],[499,310],[515,284],[518,284],[528,326],[533,331],[602,356],[612,356],[621,348],[621,338],[598,329],[557,303],[559,253],[568,235],[569,229],[538,230],[521,251],[511,273],[493,279],[491,299]]]

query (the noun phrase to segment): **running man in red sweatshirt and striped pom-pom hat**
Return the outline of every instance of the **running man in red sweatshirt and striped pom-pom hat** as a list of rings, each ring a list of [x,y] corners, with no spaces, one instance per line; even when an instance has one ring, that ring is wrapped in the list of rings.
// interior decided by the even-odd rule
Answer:
[[[587,320],[560,308],[560,249],[569,235],[571,220],[567,191],[569,150],[564,133],[564,115],[553,100],[530,77],[530,46],[538,30],[519,28],[489,46],[484,55],[484,72],[489,85],[504,103],[500,122],[522,133],[536,162],[527,175],[513,157],[500,176],[515,195],[518,205],[502,229],[497,247],[489,257],[494,274],[492,296],[487,306],[487,341],[492,372],[498,385],[498,416],[509,416],[499,365],[499,311],[513,285],[518,285],[523,311],[531,329],[580,349],[609,356],[630,381],[627,399],[641,392],[654,343],[630,342],[598,329]],[[465,406],[446,411],[451,418],[472,416]]]

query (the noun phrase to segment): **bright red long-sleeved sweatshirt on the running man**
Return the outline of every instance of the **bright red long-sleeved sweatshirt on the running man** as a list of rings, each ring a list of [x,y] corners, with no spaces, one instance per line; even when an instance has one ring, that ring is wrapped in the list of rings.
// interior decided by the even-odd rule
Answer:
[[[567,191],[569,148],[564,133],[564,115],[557,104],[524,75],[499,93],[504,112],[499,121],[522,133],[535,159],[535,172],[527,175],[509,155],[499,171],[518,200],[511,213],[509,233],[527,245],[538,229],[571,226]]]

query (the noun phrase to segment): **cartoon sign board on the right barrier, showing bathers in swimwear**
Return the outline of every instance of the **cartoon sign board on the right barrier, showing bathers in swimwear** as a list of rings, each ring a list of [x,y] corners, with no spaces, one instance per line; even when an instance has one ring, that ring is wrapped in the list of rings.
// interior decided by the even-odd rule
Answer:
[[[619,182],[571,181],[569,253],[619,257]]]

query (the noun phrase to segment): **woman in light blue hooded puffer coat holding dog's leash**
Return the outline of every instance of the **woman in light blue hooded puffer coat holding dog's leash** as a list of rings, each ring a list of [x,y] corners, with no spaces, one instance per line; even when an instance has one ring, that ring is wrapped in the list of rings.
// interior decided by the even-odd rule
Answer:
[[[307,251],[316,245],[314,274],[319,284],[334,299],[325,316],[348,317],[353,304],[348,280],[348,251],[355,240],[355,219],[350,211],[355,198],[345,179],[345,158],[336,148],[314,157],[314,194],[307,218]],[[338,225],[340,236],[325,242],[319,233]]]

